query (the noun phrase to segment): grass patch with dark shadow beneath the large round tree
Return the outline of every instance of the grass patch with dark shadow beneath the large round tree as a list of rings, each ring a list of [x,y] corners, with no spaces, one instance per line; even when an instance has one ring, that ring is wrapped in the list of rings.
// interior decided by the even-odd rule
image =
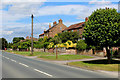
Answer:
[[[78,61],[70,62],[68,65],[81,67],[92,70],[118,71],[120,61],[113,60],[111,64],[107,64],[107,60],[92,60],[92,61]]]

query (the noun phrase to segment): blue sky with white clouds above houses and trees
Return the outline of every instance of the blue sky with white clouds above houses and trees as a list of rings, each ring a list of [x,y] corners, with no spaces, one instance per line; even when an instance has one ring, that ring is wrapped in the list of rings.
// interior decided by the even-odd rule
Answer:
[[[119,0],[3,0],[0,5],[0,37],[12,42],[14,37],[31,36],[31,14],[34,15],[34,37],[38,38],[49,23],[61,18],[69,27],[84,22],[99,8],[118,10]]]

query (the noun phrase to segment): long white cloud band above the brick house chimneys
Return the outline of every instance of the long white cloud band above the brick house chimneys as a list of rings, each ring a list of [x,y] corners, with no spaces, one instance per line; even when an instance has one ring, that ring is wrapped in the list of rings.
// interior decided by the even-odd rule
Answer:
[[[39,16],[43,15],[78,15],[81,11],[86,11],[87,7],[84,5],[64,5],[64,6],[46,6],[38,10]]]

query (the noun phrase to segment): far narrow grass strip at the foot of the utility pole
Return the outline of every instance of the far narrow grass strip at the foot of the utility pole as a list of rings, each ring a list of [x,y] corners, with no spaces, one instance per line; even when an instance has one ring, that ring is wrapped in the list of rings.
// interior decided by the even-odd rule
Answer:
[[[14,54],[20,54],[24,56],[31,56],[30,51],[6,51],[6,52],[11,52]],[[47,52],[34,52],[33,56],[45,56],[45,55],[54,55],[54,53],[47,53]]]

